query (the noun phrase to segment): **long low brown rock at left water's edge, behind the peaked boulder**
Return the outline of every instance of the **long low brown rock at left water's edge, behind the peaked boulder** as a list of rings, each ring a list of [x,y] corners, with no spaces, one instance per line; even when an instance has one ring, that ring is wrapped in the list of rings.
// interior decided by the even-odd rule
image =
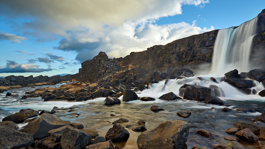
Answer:
[[[35,116],[38,116],[39,112],[38,111],[20,111],[20,112],[17,112],[15,114],[11,114],[7,117],[4,117],[2,119],[2,121],[12,121],[12,122],[15,122],[15,123],[22,123],[24,122],[25,120],[27,120],[28,118],[30,117],[35,117]]]

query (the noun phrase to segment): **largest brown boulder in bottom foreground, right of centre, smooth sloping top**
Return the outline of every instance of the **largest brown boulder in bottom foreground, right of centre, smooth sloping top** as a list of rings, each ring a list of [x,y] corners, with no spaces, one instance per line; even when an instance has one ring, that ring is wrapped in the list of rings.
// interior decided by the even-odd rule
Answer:
[[[137,139],[140,149],[183,148],[188,139],[189,127],[180,120],[167,120],[153,130],[141,133]]]

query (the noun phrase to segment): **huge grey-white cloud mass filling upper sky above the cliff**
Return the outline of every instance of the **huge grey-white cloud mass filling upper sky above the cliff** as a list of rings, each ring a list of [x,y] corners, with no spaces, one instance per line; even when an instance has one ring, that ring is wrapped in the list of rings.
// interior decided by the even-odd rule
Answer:
[[[100,51],[109,57],[124,57],[156,44],[213,30],[180,22],[158,25],[161,17],[182,14],[182,5],[203,8],[208,0],[48,0],[2,1],[0,15],[25,18],[16,24],[39,42],[60,38],[54,49],[73,51],[83,62]],[[59,6],[59,7],[58,7]],[[17,40],[19,41],[19,40]],[[47,55],[50,59],[64,59]]]

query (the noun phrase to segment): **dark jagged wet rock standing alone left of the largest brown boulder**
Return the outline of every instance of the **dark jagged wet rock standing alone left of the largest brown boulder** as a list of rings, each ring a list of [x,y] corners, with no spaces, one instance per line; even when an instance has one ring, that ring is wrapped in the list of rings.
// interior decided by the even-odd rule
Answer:
[[[119,124],[114,124],[112,128],[110,128],[106,135],[105,138],[106,140],[112,140],[112,142],[117,142],[120,140],[126,140],[129,138],[130,133],[128,130],[126,130],[122,125]]]

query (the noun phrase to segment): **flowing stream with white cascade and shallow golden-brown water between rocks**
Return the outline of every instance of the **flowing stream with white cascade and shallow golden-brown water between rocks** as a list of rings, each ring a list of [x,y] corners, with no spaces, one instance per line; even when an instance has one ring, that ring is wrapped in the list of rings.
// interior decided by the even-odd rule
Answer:
[[[84,102],[69,102],[65,100],[56,100],[43,102],[43,99],[29,98],[21,100],[19,99],[27,91],[35,90],[36,88],[45,87],[40,86],[36,88],[24,87],[18,89],[12,89],[11,92],[19,97],[5,97],[6,92],[0,96],[0,118],[4,118],[15,112],[19,112],[20,109],[32,108],[34,110],[51,110],[54,106],[64,107],[62,110],[57,110],[54,115],[58,116],[62,120],[68,120],[71,122],[81,123],[85,126],[85,129],[91,128],[98,130],[100,136],[105,136],[107,130],[112,128],[112,122],[125,118],[130,122],[121,123],[130,133],[128,140],[123,142],[114,143],[122,148],[137,148],[137,138],[141,132],[134,132],[131,129],[137,127],[138,120],[145,120],[146,128],[152,130],[157,127],[161,122],[166,120],[183,120],[188,123],[190,127],[190,133],[186,144],[188,148],[195,145],[201,145],[211,148],[211,145],[219,143],[229,143],[228,140],[224,140],[225,136],[229,134],[223,132],[227,128],[232,128],[235,122],[253,122],[253,119],[261,115],[259,112],[239,112],[237,108],[258,108],[265,106],[265,98],[258,95],[245,95],[243,92],[232,87],[226,82],[220,82],[219,76],[214,76],[218,81],[217,83],[211,81],[210,77],[213,75],[194,76],[178,80],[161,81],[153,84],[149,89],[137,92],[139,97],[153,97],[155,101],[140,101],[134,100],[130,102],[123,102],[122,97],[121,104],[113,106],[102,105],[105,98],[96,98],[94,100],[87,100]],[[225,102],[225,105],[212,105],[204,102],[197,102],[192,100],[174,100],[165,101],[158,99],[161,95],[174,92],[178,95],[178,90],[183,84],[194,84],[209,87],[210,85],[216,85],[220,87],[224,95],[220,97]],[[60,85],[60,84],[59,84]],[[52,87],[59,87],[54,85]],[[255,83],[256,89],[263,90],[264,87],[258,82]],[[50,87],[50,86],[49,86]],[[164,108],[164,111],[152,112],[150,107],[152,105],[158,105]],[[214,107],[212,109],[212,107]],[[229,107],[234,111],[223,112],[223,107]],[[180,110],[191,111],[191,116],[188,118],[182,118],[176,115]],[[114,114],[115,116],[110,116]],[[27,123],[19,124],[22,129]],[[213,138],[206,138],[195,133],[196,130],[204,129],[216,136]],[[242,142],[241,142],[242,143]],[[251,143],[243,142],[248,148],[255,148],[255,145]]]

